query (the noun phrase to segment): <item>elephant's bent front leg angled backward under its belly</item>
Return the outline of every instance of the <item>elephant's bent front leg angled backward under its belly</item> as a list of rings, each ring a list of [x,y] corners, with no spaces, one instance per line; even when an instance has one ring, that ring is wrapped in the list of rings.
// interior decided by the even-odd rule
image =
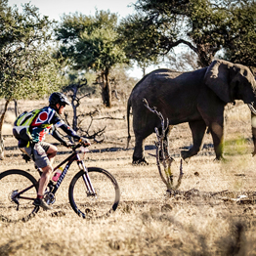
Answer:
[[[202,148],[202,141],[206,131],[206,124],[203,120],[191,121],[189,125],[192,130],[192,149],[181,151],[183,159],[190,158],[198,153]]]

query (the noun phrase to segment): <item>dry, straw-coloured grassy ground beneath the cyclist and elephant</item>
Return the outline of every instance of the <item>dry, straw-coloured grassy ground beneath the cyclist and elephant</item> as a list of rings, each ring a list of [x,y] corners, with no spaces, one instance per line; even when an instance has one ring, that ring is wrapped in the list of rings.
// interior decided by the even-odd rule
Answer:
[[[20,111],[45,104],[47,101],[27,101],[20,103]],[[107,125],[105,141],[93,144],[85,157],[87,166],[105,168],[116,178],[121,190],[116,212],[99,221],[85,221],[73,212],[67,197],[69,182],[77,171],[73,164],[57,193],[54,210],[40,210],[26,223],[0,222],[0,255],[256,255],[256,156],[251,156],[250,111],[246,106],[238,103],[226,109],[227,160],[214,161],[207,134],[200,153],[184,162],[182,184],[172,196],[166,193],[155,158],[149,155],[155,153],[154,134],[146,141],[149,165],[132,165],[134,137],[126,149],[125,102],[115,102],[108,109],[98,99],[85,99],[79,109],[97,109],[95,119],[99,120],[93,121],[91,132]],[[37,176],[33,164],[22,160],[17,142],[9,136],[13,113],[10,105],[1,172],[20,168]],[[89,123],[90,117],[86,117],[82,124],[88,127]],[[47,141],[56,143],[51,137]],[[188,124],[177,125],[170,136],[175,182],[180,151],[191,144]],[[56,163],[68,153],[61,146],[59,151]],[[248,197],[236,200],[238,195]]]

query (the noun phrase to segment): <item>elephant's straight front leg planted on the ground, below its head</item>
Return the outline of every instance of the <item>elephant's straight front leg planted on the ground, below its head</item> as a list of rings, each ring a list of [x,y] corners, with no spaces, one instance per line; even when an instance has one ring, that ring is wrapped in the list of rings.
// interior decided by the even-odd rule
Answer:
[[[210,124],[210,132],[212,135],[214,150],[216,154],[216,159],[224,159],[223,157],[223,141],[224,141],[224,135],[223,135],[223,122],[213,122]]]

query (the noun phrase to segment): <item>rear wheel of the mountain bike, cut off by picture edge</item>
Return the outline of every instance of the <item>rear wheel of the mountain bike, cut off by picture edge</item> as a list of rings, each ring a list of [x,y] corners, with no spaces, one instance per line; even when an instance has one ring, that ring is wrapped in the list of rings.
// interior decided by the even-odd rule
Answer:
[[[33,187],[27,192],[23,192],[21,196],[31,199],[19,197],[18,207],[18,203],[11,196],[29,186]],[[37,191],[37,181],[32,175],[23,170],[12,169],[0,173],[0,220],[4,222],[26,222],[31,219],[39,210],[38,206],[32,204]]]

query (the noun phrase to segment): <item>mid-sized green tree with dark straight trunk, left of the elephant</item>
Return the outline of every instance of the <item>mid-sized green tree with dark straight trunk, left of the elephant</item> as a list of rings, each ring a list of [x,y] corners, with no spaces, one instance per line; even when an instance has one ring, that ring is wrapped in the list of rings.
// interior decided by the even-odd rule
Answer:
[[[61,42],[60,53],[76,70],[100,71],[104,105],[111,106],[109,70],[126,62],[123,50],[115,43],[117,16],[109,12],[96,12],[95,17],[81,14],[68,15],[56,29]]]

